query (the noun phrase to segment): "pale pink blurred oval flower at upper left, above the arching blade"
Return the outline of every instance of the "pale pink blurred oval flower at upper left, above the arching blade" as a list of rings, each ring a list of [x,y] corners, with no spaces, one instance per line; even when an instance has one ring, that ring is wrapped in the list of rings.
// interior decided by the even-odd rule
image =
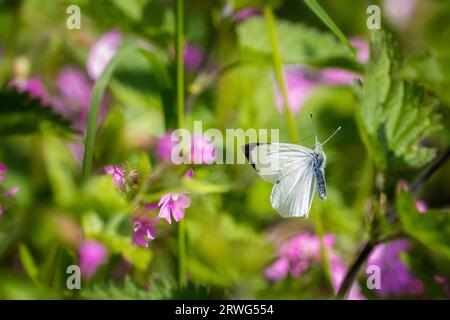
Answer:
[[[86,65],[92,79],[97,80],[101,76],[109,61],[116,54],[121,42],[122,34],[117,30],[110,30],[92,46]]]

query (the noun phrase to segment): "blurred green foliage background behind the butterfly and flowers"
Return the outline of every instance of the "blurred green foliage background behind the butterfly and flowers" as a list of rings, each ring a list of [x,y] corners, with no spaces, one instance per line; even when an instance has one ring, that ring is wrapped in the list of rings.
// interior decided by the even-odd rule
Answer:
[[[404,286],[404,272],[420,281],[420,290],[370,290],[363,267],[358,297],[448,298],[450,165],[414,195],[399,191],[399,182],[410,184],[449,145],[450,3],[401,1],[412,8],[402,16],[388,9],[387,2],[395,1],[318,1],[347,38],[371,43],[368,62],[357,59],[304,1],[185,1],[185,50],[199,50],[184,57],[188,129],[196,120],[204,130],[224,133],[275,128],[280,141],[291,142],[277,108],[261,9],[266,5],[273,6],[284,68],[302,70],[307,82],[308,89],[285,79],[288,93],[300,90],[292,98],[300,104],[293,110],[300,144],[314,145],[310,112],[322,140],[343,128],[325,147],[327,200],[316,196],[308,219],[283,219],[270,205],[272,185],[248,164],[195,165],[189,180],[183,178],[187,166],[165,164],[158,156],[159,138],[176,127],[174,1],[0,0],[0,163],[8,169],[0,191],[20,189],[0,197],[0,298],[331,299],[339,286],[334,280],[342,281],[364,240],[400,238],[408,239],[408,249],[386,259],[405,267],[396,277],[383,277],[382,268],[381,284]],[[81,9],[80,29],[66,27],[72,4]],[[370,4],[381,8],[382,31],[366,26]],[[236,17],[248,7],[259,9]],[[84,75],[90,94],[95,79],[88,75],[89,52],[111,30],[147,54],[133,51],[118,62],[97,127],[93,173],[84,180],[83,124],[74,125],[73,117],[48,105],[61,96],[58,77],[67,66]],[[347,80],[324,80],[326,71],[336,69]],[[51,97],[47,103],[11,85],[33,77]],[[69,88],[83,90],[71,81]],[[102,171],[110,164],[137,172],[138,182],[122,192]],[[130,217],[173,190],[188,191],[192,200],[183,219],[188,281],[182,287],[177,223],[161,222],[148,248],[132,244]],[[386,221],[390,208],[400,221]],[[300,274],[279,270],[279,279],[271,279],[267,269],[298,235],[317,239],[320,257],[304,256],[308,267]],[[334,238],[332,249],[320,241],[324,235]],[[80,244],[87,240],[101,243],[107,258],[83,278],[81,290],[69,290],[66,268],[79,264]],[[343,270],[333,263],[335,256]]]

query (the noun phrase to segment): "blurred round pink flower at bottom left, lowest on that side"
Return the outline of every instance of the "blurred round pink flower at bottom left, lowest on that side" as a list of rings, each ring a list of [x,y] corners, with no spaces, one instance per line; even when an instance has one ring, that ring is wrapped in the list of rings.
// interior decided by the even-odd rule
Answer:
[[[85,241],[79,248],[81,275],[89,279],[108,260],[108,250],[98,241]]]

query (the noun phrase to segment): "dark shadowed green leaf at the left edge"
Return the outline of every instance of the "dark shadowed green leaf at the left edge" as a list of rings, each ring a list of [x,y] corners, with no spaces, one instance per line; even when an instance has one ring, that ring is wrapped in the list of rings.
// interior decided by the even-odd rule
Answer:
[[[42,105],[28,93],[0,90],[0,135],[34,134],[48,129],[67,138],[72,134],[70,121],[50,106]]]

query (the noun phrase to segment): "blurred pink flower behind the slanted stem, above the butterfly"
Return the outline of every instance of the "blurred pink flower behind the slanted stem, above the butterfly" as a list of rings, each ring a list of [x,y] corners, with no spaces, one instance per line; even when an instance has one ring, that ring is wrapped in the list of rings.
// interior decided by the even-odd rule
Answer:
[[[308,100],[309,96],[316,88],[316,83],[306,76],[305,70],[299,67],[286,67],[284,69],[284,79],[288,94],[289,108],[295,115],[303,104]],[[278,111],[284,112],[284,101],[280,90],[276,87],[275,104]]]

